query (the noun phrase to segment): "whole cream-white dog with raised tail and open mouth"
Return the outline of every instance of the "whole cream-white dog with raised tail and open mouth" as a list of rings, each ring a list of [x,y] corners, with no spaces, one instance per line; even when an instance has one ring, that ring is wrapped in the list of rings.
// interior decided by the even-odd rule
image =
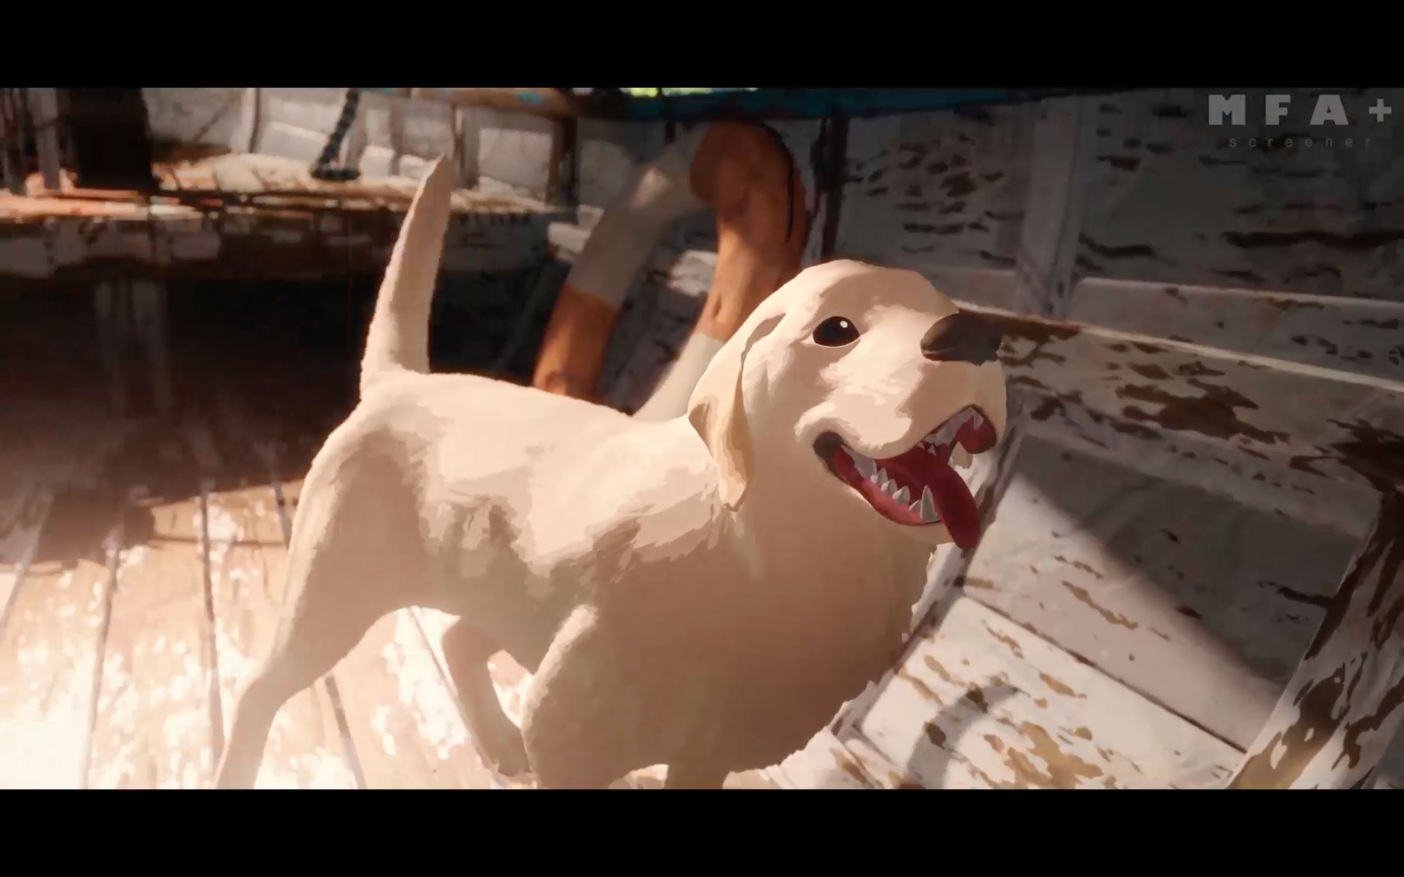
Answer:
[[[400,232],[218,784],[251,786],[278,709],[406,606],[458,616],[479,748],[546,787],[779,762],[890,667],[935,546],[979,537],[951,457],[1002,435],[998,338],[918,274],[835,261],[767,299],[674,421],[430,375],[451,191],[439,163]],[[535,674],[519,732],[498,650]]]

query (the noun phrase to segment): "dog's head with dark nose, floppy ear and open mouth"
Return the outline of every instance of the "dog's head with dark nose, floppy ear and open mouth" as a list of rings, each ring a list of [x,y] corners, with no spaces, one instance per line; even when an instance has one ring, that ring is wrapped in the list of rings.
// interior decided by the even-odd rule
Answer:
[[[727,508],[774,471],[796,502],[831,498],[914,539],[969,547],[980,519],[962,470],[1004,435],[998,345],[920,274],[826,262],[727,341],[688,418]]]

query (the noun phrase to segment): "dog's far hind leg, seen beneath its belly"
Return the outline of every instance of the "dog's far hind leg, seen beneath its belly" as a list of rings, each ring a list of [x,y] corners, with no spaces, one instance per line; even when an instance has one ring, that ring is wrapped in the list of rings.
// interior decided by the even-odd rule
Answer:
[[[487,672],[487,660],[497,651],[491,638],[462,619],[444,631],[444,661],[458,689],[473,744],[498,773],[517,777],[528,770],[526,747],[521,731],[503,711]]]

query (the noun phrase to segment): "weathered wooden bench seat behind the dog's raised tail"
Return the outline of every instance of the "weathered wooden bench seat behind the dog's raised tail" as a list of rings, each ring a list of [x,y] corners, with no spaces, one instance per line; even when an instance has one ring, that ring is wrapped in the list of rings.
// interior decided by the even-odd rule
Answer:
[[[42,191],[0,195],[0,278],[53,281],[117,272],[153,279],[298,279],[379,274],[417,181],[313,180],[306,164],[220,154],[156,168],[161,195]],[[546,225],[567,213],[508,192],[458,189],[444,247],[449,272],[529,268]]]

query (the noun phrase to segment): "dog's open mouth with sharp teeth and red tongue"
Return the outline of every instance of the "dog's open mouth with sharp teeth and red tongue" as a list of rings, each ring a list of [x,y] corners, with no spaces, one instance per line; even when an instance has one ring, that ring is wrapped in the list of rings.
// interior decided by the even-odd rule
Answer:
[[[980,539],[980,511],[965,478],[952,467],[951,455],[956,445],[984,453],[997,441],[990,420],[979,408],[966,407],[894,457],[866,457],[833,432],[821,435],[814,450],[830,471],[889,521],[945,525],[951,539],[969,549]]]

